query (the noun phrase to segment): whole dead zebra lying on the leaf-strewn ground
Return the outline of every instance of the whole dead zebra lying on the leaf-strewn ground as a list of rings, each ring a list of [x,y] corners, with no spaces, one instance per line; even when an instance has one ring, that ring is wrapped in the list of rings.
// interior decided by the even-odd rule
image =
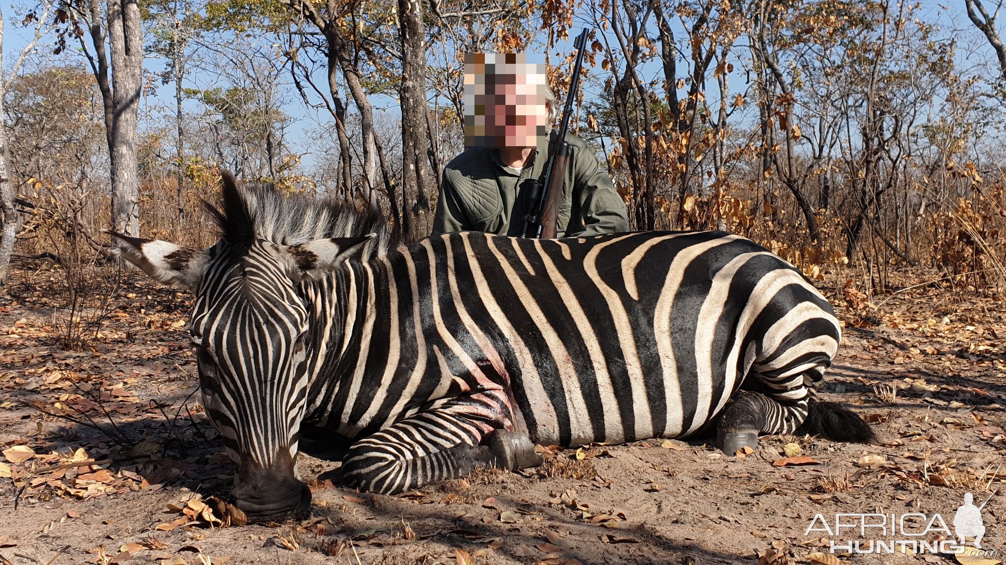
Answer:
[[[113,233],[195,297],[209,420],[252,521],[304,515],[302,431],[346,445],[343,481],[384,494],[540,464],[535,444],[686,437],[728,454],[796,430],[868,442],[818,402],[840,342],[793,265],[722,231],[568,239],[447,233],[404,246],[376,212],[238,187],[207,249]]]

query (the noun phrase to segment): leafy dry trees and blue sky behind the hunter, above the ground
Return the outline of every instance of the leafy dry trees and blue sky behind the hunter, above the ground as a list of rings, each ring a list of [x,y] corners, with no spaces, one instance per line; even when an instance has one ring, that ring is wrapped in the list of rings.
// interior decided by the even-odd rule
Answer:
[[[749,236],[857,308],[901,267],[997,301],[1001,5],[19,0],[0,18],[0,281],[11,260],[52,269],[77,340],[73,313],[101,318],[117,280],[101,229],[210,244],[198,199],[221,169],[422,238],[463,150],[464,53],[540,53],[561,99],[586,26],[573,127],[636,228]]]

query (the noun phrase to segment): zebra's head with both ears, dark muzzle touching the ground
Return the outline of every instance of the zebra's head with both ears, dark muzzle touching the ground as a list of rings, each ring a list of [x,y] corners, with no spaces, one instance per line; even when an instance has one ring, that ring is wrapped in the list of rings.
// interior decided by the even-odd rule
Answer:
[[[189,329],[203,404],[238,464],[233,497],[252,521],[307,513],[311,492],[295,465],[313,365],[304,291],[374,235],[333,237],[374,226],[308,202],[224,176],[222,209],[207,205],[221,231],[208,249],[113,234],[124,258],[196,296]]]

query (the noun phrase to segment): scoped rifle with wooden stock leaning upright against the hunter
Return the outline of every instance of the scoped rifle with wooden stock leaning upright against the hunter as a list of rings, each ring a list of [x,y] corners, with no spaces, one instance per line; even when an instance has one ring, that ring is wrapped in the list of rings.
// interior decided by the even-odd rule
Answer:
[[[572,103],[579,89],[579,71],[583,67],[583,52],[586,50],[589,30],[583,28],[573,42],[576,48],[576,63],[572,67],[572,77],[569,79],[569,91],[566,92],[566,103],[562,110],[562,122],[559,124],[559,137],[556,140],[555,151],[545,162],[545,182],[538,179],[525,181],[525,202],[530,204],[530,213],[524,214],[524,237],[554,239],[558,231],[558,211],[562,200],[562,181],[565,179],[565,169],[569,162],[569,144],[565,141],[569,131],[569,116],[572,114]]]

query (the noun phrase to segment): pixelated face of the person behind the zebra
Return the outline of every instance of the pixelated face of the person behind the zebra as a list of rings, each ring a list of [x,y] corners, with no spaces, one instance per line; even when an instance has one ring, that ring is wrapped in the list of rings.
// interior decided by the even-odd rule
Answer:
[[[534,147],[545,135],[545,65],[522,53],[465,55],[465,147]]]

